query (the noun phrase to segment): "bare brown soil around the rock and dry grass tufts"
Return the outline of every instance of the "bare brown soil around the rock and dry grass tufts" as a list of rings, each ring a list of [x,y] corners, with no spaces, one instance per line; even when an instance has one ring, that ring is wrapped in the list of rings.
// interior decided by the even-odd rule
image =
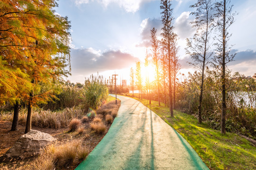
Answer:
[[[72,139],[82,139],[83,144],[88,148],[89,152],[91,152],[105,136],[111,124],[107,124],[106,132],[104,134],[96,134],[94,131],[90,129],[89,123],[90,121],[83,123],[83,126],[85,128],[85,132],[83,134],[78,134],[78,132],[69,132],[68,127],[53,129],[32,126],[32,129],[48,133],[51,136],[57,138],[57,140],[60,142],[70,141]],[[11,124],[12,123],[10,121],[0,120],[0,156],[4,155],[6,151],[8,151],[15,144],[15,142],[18,140],[20,136],[24,135],[24,125],[18,125],[17,131],[10,131]],[[13,160],[10,162],[0,162],[0,165],[1,163],[3,163],[4,165],[11,167],[12,165],[15,164],[16,166],[18,165],[19,167],[29,163],[30,161],[33,161],[33,159],[35,158],[29,158],[18,161]],[[66,167],[66,170],[74,170],[76,166],[77,165]]]

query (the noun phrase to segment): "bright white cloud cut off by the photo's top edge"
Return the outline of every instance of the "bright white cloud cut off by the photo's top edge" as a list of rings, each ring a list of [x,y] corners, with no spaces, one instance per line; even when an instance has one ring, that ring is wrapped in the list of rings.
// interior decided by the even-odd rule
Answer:
[[[87,4],[94,0],[75,0],[76,6],[81,4]],[[141,5],[146,2],[150,2],[153,0],[96,0],[97,2],[103,4],[107,7],[111,3],[116,3],[119,7],[124,8],[126,12],[136,12],[140,9]]]

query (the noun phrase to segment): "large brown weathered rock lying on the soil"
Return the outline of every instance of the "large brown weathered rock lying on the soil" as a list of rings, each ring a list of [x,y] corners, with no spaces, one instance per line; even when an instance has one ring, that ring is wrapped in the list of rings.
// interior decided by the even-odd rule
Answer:
[[[57,139],[50,134],[40,132],[38,130],[30,130],[25,135],[19,137],[17,142],[6,152],[5,158],[28,158],[36,156],[47,144]]]

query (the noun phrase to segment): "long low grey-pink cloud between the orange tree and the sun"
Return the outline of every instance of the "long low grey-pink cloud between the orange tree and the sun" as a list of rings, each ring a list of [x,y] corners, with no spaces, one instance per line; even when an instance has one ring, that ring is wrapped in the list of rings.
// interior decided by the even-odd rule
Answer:
[[[120,50],[101,53],[93,48],[71,49],[71,73],[73,76],[89,75],[97,71],[128,68],[138,60],[133,55]]]

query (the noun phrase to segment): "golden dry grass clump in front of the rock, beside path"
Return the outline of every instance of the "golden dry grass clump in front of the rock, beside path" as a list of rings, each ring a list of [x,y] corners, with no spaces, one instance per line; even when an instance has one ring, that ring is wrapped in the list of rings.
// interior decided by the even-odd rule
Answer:
[[[82,140],[73,140],[50,144],[31,163],[22,166],[2,166],[0,170],[61,170],[70,165],[77,166],[89,153],[82,143]]]

